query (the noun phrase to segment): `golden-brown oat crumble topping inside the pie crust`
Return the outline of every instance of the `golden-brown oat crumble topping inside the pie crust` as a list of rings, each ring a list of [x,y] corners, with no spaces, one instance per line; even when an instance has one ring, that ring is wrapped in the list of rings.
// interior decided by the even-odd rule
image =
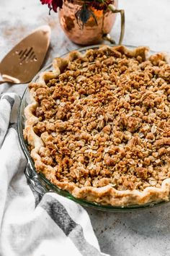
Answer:
[[[170,65],[111,48],[35,90],[42,163],[78,187],[161,187],[170,177]],[[40,170],[37,170],[40,171]]]

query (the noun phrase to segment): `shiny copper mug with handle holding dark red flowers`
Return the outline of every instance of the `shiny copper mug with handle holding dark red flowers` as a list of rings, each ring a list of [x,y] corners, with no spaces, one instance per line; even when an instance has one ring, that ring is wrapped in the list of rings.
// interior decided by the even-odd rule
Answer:
[[[75,14],[83,5],[84,0],[63,1],[63,8],[59,12],[61,27],[73,43],[80,45],[101,43],[103,38],[106,38],[106,35],[112,29],[115,23],[116,13],[122,11],[124,14],[124,11],[117,10],[117,0],[113,1],[113,4],[107,10],[97,10],[94,7],[88,7],[90,12],[93,12],[95,15],[95,19],[94,15],[91,14],[89,20],[82,26],[77,21]],[[86,5],[88,5],[88,1],[86,1]],[[121,26],[121,36],[123,37],[125,17],[124,20],[122,19],[122,23],[124,23],[123,27]],[[122,38],[120,39],[122,40]]]

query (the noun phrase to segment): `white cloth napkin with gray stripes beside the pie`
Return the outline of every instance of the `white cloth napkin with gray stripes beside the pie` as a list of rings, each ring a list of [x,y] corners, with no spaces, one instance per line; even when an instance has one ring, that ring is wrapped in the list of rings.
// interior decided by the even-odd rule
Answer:
[[[16,129],[20,98],[0,99],[0,255],[105,255],[86,210],[55,193],[37,194],[27,184],[27,161]]]

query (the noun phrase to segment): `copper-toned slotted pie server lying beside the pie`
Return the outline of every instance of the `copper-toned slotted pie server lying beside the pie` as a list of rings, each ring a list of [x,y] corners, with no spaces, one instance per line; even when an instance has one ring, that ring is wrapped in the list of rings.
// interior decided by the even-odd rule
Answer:
[[[50,27],[38,27],[32,34],[14,46],[0,62],[0,84],[30,82],[40,70],[50,44]]]

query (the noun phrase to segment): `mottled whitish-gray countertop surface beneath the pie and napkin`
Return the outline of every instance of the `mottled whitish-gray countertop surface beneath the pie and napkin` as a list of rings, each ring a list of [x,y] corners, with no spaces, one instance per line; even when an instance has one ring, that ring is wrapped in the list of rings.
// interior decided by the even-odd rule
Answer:
[[[119,1],[125,9],[125,38],[123,43],[150,46],[155,51],[170,52],[170,1]],[[39,0],[0,0],[0,59],[25,35],[40,25],[52,29],[50,49],[45,64],[54,56],[77,46],[71,43],[58,22],[58,15],[40,5]],[[117,41],[120,17],[111,35]],[[17,91],[22,95],[27,85],[0,85],[0,93]],[[106,213],[87,209],[102,252],[112,256],[170,255],[170,203],[146,210],[127,213]]]

